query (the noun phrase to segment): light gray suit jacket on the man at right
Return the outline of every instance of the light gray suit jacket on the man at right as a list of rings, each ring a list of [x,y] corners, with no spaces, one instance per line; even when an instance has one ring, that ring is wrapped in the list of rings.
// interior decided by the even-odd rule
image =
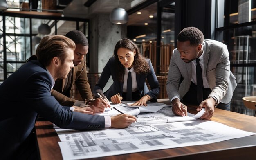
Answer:
[[[229,103],[236,88],[236,80],[230,72],[229,51],[221,42],[204,39],[204,74],[207,77],[212,92],[209,96],[216,97],[218,104]],[[169,99],[178,96],[182,99],[189,91],[192,78],[192,64],[185,63],[180,58],[177,49],[173,50],[166,83]],[[180,78],[184,78],[180,83]]]

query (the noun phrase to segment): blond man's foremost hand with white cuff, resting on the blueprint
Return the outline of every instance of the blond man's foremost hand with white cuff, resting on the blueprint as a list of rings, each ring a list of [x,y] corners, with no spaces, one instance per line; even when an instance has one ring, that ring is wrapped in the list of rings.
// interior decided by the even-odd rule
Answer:
[[[126,128],[130,124],[136,122],[136,117],[129,114],[119,114],[111,117],[112,128]]]

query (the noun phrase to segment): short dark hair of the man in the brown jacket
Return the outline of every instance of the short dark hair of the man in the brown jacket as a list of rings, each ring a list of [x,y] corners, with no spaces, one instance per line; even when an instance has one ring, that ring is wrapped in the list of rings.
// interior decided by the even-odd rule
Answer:
[[[69,31],[65,36],[72,39],[75,42],[75,44],[82,44],[83,46],[89,46],[86,36],[81,31],[78,31],[78,30]]]

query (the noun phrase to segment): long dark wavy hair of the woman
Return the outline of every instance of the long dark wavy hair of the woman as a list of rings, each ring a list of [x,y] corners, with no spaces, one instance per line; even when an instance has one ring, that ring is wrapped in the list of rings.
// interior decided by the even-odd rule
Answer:
[[[147,74],[150,71],[150,66],[148,65],[145,57],[140,54],[138,46],[132,42],[130,39],[121,39],[117,42],[114,50],[114,56],[117,64],[117,79],[119,81],[124,81],[124,66],[118,59],[117,50],[119,48],[126,48],[131,51],[136,51],[133,61],[134,72],[137,74]]]

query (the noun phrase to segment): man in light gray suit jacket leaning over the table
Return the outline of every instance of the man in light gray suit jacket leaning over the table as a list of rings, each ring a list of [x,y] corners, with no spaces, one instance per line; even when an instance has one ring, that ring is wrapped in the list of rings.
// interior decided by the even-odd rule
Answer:
[[[198,28],[184,28],[177,37],[166,83],[174,114],[187,114],[183,103],[199,105],[197,110],[204,107],[206,112],[201,119],[210,119],[215,107],[230,110],[236,85],[227,46],[204,39]]]

